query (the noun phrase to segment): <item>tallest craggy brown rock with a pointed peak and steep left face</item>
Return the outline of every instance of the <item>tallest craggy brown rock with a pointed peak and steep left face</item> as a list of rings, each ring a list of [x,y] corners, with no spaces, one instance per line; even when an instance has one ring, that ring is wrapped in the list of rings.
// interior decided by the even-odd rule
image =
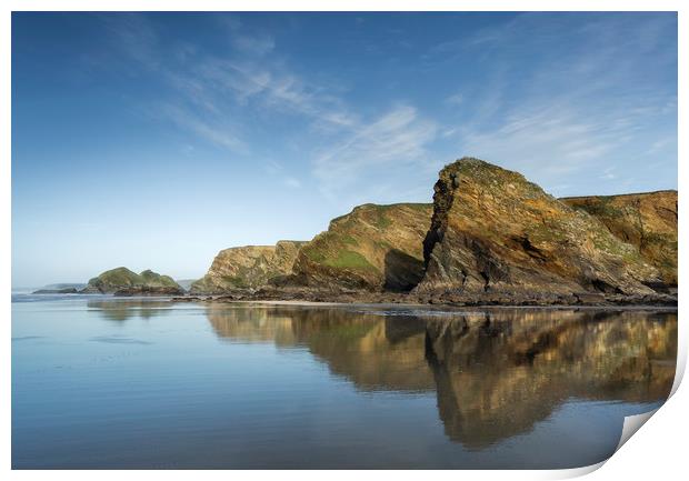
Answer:
[[[648,295],[660,280],[637,248],[598,219],[517,172],[470,158],[440,172],[423,254],[419,292],[495,302]]]

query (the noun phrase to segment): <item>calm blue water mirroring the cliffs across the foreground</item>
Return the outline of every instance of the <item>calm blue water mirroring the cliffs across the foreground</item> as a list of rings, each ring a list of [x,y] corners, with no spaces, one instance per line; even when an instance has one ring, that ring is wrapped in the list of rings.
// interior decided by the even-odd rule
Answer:
[[[573,468],[675,375],[676,312],[13,301],[14,468]]]

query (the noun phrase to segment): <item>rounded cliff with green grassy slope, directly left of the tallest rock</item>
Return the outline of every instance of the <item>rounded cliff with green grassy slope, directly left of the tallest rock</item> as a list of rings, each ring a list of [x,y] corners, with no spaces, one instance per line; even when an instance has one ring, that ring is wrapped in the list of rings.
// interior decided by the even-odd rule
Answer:
[[[359,206],[299,251],[293,280],[324,290],[410,290],[423,275],[431,212],[425,203]]]

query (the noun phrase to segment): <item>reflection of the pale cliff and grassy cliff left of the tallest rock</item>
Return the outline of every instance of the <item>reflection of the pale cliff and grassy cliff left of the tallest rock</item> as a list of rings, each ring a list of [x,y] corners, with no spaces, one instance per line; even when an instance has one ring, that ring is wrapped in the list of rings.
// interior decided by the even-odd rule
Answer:
[[[416,318],[361,314],[346,309],[223,307],[208,319],[219,337],[303,347],[334,374],[361,390],[433,391],[425,354],[425,323]]]

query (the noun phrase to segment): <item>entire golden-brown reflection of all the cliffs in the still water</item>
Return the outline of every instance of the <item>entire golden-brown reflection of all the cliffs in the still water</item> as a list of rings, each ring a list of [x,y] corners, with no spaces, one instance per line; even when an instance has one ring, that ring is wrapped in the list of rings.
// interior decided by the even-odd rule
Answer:
[[[211,304],[207,314],[221,338],[306,348],[361,390],[436,390],[446,433],[469,448],[527,432],[572,398],[665,400],[675,375],[676,313]]]

